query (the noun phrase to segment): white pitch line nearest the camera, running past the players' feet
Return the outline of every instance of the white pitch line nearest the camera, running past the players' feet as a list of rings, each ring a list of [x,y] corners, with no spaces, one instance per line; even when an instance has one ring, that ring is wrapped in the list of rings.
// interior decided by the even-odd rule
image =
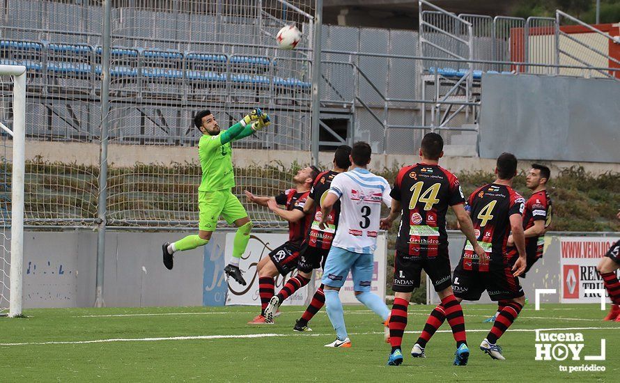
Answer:
[[[618,330],[620,327],[560,327],[555,329],[508,329],[506,332],[536,332],[536,331],[564,331],[564,330]],[[452,330],[437,330],[436,332],[451,333]],[[470,329],[467,332],[488,332],[488,329]],[[349,335],[377,335],[383,331],[371,331],[350,333]],[[419,331],[405,331],[405,334],[419,334]],[[241,334],[241,335],[198,335],[198,336],[170,336],[159,338],[110,338],[95,339],[93,341],[49,341],[27,343],[0,343],[0,347],[21,345],[82,345],[88,343],[113,343],[113,342],[154,342],[154,341],[196,341],[210,339],[243,339],[243,338],[277,338],[290,336],[334,336],[334,334]]]

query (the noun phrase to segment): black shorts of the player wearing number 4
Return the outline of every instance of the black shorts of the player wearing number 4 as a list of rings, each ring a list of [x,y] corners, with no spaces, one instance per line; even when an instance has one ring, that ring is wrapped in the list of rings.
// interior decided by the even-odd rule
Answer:
[[[484,290],[493,301],[513,299],[525,295],[519,279],[512,275],[509,265],[490,265],[488,272],[463,269],[458,263],[452,276],[454,296],[477,301]]]

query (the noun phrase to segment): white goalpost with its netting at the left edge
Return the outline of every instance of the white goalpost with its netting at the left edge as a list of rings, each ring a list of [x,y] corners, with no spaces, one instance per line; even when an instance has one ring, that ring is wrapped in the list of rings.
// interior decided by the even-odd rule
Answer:
[[[26,68],[0,65],[0,313],[22,314]]]

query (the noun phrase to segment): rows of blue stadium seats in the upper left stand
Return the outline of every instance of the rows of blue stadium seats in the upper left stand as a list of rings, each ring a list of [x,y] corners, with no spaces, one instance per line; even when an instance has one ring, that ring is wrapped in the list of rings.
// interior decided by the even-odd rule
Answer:
[[[265,56],[112,47],[110,91],[115,96],[261,102],[270,92],[291,95],[310,83],[282,73]],[[100,94],[102,47],[62,42],[0,40],[0,63],[26,65],[32,86],[54,93]],[[275,74],[277,72],[277,75]],[[286,72],[286,68],[284,69]],[[234,86],[231,86],[234,84]],[[281,88],[281,89],[278,89]]]

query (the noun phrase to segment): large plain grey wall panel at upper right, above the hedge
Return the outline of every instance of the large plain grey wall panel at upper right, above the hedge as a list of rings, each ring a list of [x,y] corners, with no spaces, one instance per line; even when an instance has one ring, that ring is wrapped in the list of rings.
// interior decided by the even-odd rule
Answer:
[[[486,74],[482,87],[481,157],[620,162],[619,81]]]

